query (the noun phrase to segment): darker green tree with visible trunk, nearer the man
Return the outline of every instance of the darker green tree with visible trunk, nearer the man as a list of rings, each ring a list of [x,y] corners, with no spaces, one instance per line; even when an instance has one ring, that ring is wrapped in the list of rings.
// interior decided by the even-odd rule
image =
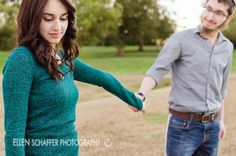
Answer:
[[[123,5],[122,25],[118,30],[117,55],[123,55],[126,44],[138,44],[143,51],[145,43],[166,38],[163,32],[173,32],[172,21],[160,11],[156,0],[117,0]],[[163,27],[163,25],[165,27]]]

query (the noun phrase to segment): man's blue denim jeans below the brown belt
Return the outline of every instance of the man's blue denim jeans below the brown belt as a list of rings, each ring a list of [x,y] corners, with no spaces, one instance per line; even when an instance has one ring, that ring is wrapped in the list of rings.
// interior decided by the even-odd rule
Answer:
[[[167,131],[167,156],[217,156],[218,121],[202,123],[171,115]]]

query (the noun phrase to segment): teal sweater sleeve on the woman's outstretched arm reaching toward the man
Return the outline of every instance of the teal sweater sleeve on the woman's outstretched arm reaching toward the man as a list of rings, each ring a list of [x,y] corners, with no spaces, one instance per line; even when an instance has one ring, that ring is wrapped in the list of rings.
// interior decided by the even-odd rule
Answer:
[[[142,109],[142,101],[134,95],[133,92],[125,88],[114,76],[91,67],[79,59],[74,61],[74,79],[77,81],[93,84],[103,87],[108,92],[119,97],[131,106]]]

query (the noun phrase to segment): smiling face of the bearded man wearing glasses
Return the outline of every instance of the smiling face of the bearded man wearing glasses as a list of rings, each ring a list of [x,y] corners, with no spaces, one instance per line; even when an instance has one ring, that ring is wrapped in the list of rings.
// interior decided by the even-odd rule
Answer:
[[[229,20],[228,8],[228,5],[219,3],[217,0],[209,0],[201,15],[202,27],[211,31],[221,29]]]

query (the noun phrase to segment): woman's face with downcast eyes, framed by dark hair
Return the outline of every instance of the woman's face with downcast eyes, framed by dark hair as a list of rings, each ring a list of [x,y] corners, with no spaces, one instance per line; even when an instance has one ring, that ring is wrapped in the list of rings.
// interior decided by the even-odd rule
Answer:
[[[48,0],[40,22],[39,34],[56,47],[68,26],[68,10],[59,0]]]

